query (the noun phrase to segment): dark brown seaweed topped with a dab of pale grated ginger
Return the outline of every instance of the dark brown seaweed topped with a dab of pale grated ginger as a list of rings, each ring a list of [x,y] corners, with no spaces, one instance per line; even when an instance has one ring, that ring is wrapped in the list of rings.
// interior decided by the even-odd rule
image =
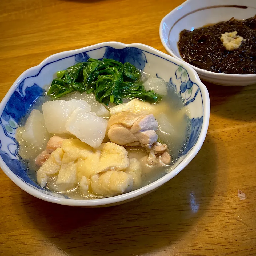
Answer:
[[[183,30],[181,57],[191,65],[215,73],[256,73],[256,16],[219,22],[193,31]]]

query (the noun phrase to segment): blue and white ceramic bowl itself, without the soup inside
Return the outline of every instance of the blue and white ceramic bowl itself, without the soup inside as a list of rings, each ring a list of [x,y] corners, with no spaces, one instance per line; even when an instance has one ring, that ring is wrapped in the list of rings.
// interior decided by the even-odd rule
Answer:
[[[158,75],[180,93],[190,111],[191,126],[187,148],[175,163],[175,167],[164,177],[135,191],[110,198],[75,200],[41,188],[29,175],[18,155],[19,144],[16,129],[21,118],[33,102],[50,85],[55,73],[88,58],[110,58],[130,62],[138,69]],[[209,124],[210,99],[208,91],[197,73],[188,65],[150,46],[134,43],[125,45],[105,42],[85,48],[54,54],[36,67],[26,70],[11,86],[0,104],[0,166],[5,174],[21,189],[45,201],[63,205],[99,207],[134,200],[157,189],[177,175],[197,154],[205,139]]]

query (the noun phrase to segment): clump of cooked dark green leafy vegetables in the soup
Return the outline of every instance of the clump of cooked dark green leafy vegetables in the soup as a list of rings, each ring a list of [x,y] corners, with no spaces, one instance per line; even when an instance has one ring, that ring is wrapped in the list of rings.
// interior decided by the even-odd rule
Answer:
[[[68,93],[93,92],[97,101],[106,105],[120,104],[125,99],[138,98],[155,103],[161,101],[161,95],[154,91],[146,91],[139,81],[140,71],[131,63],[122,64],[113,59],[88,59],[77,63],[67,70],[58,71],[53,79],[47,95],[60,98]]]

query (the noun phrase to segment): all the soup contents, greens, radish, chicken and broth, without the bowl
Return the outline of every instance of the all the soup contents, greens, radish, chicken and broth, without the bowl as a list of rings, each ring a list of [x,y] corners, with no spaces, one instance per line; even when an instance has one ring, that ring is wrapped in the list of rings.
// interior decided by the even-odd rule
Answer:
[[[31,177],[74,199],[111,197],[162,177],[189,131],[187,107],[170,88],[111,59],[57,72],[18,128]]]

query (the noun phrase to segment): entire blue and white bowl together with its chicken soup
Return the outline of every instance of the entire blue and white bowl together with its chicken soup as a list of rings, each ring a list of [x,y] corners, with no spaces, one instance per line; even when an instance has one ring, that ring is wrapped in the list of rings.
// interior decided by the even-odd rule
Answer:
[[[15,184],[49,202],[103,207],[177,175],[203,144],[210,100],[183,62],[106,42],[26,70],[0,111],[0,166]]]

